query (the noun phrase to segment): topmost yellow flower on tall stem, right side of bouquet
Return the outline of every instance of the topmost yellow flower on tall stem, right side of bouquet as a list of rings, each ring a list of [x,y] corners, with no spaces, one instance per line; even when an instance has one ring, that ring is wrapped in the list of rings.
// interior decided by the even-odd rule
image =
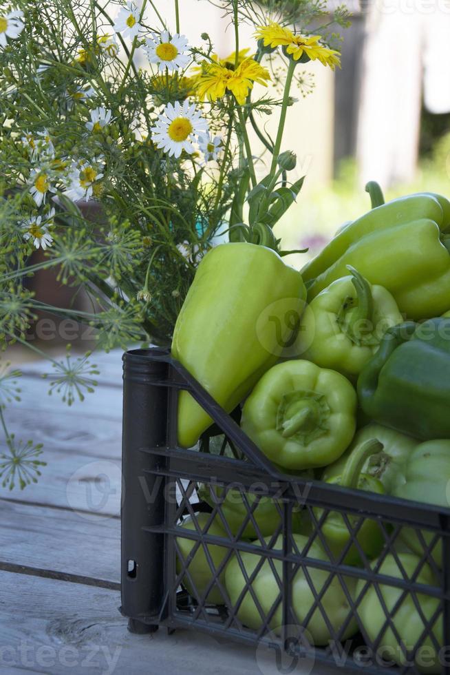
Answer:
[[[305,54],[311,61],[320,61],[323,65],[329,65],[332,70],[336,65],[341,66],[339,52],[321,45],[320,35],[295,35],[289,28],[270,21],[269,25],[260,25],[257,28],[255,37],[263,41],[264,47],[283,47],[294,61],[299,61]]]

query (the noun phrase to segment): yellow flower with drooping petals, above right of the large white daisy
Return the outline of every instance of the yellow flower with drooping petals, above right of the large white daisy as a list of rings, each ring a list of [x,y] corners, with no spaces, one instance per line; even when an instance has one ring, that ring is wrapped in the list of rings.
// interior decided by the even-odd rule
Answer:
[[[247,94],[257,82],[267,86],[270,74],[267,68],[253,59],[244,59],[236,70],[232,70],[220,63],[208,63],[197,77],[197,95],[200,99],[208,98],[208,101],[216,101],[222,98],[228,90],[234,94],[237,103],[243,105]]]

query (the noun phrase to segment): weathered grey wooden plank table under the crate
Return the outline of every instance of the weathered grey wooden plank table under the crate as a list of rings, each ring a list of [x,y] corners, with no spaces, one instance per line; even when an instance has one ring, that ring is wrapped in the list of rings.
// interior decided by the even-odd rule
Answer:
[[[0,673],[281,672],[274,654],[200,632],[127,632],[118,611],[121,353],[95,360],[99,384],[85,402],[67,408],[47,396],[47,364],[26,364],[21,402],[6,410],[10,431],[44,444],[47,466],[25,490],[0,488]],[[289,672],[332,671],[299,663]]]

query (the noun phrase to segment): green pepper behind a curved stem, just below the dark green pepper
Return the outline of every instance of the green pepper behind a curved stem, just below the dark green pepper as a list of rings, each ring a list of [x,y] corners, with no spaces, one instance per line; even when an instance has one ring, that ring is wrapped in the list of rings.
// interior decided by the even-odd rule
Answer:
[[[419,441],[380,424],[368,424],[356,432],[352,444],[337,461],[325,467],[321,479],[330,481],[341,476],[347,461],[361,453],[361,448],[370,440],[380,442],[383,450],[367,457],[362,472],[381,481],[385,492],[392,495],[397,486],[405,484],[407,461]]]

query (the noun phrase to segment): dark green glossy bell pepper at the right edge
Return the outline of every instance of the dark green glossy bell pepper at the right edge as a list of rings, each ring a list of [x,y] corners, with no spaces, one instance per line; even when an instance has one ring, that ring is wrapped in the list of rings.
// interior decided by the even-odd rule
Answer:
[[[358,377],[363,411],[417,438],[449,438],[449,337],[449,318],[388,329]]]

